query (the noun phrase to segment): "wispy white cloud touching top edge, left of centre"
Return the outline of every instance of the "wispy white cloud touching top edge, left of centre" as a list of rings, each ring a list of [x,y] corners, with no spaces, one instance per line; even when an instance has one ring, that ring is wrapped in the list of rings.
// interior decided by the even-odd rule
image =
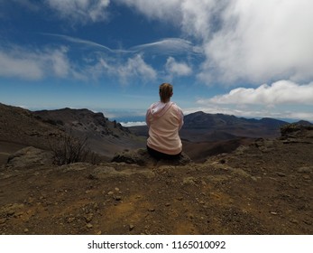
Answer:
[[[90,23],[106,20],[110,0],[45,0],[60,18],[72,23]]]

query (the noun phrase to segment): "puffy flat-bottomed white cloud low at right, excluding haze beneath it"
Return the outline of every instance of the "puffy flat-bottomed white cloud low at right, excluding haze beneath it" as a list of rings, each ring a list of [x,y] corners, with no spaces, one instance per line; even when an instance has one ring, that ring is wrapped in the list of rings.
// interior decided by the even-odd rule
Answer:
[[[313,82],[300,85],[290,80],[280,80],[272,85],[263,84],[256,89],[236,88],[228,94],[209,99],[200,99],[198,103],[235,104],[235,105],[313,105]]]

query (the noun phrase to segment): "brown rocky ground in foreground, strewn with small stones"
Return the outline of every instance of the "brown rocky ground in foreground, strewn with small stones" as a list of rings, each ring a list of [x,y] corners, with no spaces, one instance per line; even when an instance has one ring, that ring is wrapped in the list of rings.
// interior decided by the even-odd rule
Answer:
[[[55,166],[26,147],[0,169],[0,234],[312,234],[313,130],[283,134],[201,164]]]

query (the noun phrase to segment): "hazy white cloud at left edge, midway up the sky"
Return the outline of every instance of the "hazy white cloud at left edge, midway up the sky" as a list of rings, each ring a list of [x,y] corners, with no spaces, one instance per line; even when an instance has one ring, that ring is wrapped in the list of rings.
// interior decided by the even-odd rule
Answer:
[[[54,76],[64,78],[71,71],[67,49],[27,50],[20,47],[0,48],[0,76],[41,80]]]

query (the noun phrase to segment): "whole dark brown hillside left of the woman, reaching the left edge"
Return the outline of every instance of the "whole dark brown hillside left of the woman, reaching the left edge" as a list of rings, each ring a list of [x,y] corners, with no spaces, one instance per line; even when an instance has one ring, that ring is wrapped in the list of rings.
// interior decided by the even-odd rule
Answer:
[[[119,123],[109,121],[102,113],[70,108],[32,112],[0,104],[0,160],[7,158],[7,150],[14,149],[14,145],[49,150],[66,133],[87,137],[90,149],[106,157],[125,148],[144,146],[143,139],[133,136]]]

